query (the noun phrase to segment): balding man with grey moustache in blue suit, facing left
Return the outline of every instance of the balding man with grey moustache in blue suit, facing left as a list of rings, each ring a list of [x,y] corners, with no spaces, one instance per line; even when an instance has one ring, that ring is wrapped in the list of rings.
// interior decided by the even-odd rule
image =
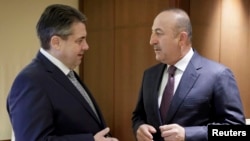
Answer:
[[[161,63],[143,75],[132,116],[138,141],[206,141],[208,125],[245,124],[232,72],[200,56],[191,38],[191,22],[183,10],[168,9],[156,16],[150,44]],[[173,75],[167,73],[170,66],[176,68]],[[168,78],[173,78],[174,87],[169,107],[160,112],[165,85],[172,83]]]

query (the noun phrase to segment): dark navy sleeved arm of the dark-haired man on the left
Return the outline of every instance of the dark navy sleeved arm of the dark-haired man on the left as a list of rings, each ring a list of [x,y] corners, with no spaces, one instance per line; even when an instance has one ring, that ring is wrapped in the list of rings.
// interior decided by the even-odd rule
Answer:
[[[53,105],[48,92],[28,75],[15,80],[8,97],[8,112],[16,141],[94,141],[93,134],[56,135]]]

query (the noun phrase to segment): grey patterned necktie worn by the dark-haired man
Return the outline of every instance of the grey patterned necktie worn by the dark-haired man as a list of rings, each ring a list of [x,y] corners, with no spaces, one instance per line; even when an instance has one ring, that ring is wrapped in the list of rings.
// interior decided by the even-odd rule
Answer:
[[[70,79],[70,81],[75,85],[75,87],[77,88],[77,90],[78,90],[78,91],[82,94],[82,96],[85,98],[85,100],[88,102],[89,106],[90,106],[91,109],[94,111],[94,113],[96,114],[97,118],[99,119],[94,104],[92,103],[90,97],[88,96],[87,92],[84,90],[84,88],[82,87],[82,85],[81,85],[81,84],[78,82],[78,80],[76,79],[74,72],[73,72],[73,71],[70,71],[70,72],[68,73],[67,76],[68,76],[68,78]]]

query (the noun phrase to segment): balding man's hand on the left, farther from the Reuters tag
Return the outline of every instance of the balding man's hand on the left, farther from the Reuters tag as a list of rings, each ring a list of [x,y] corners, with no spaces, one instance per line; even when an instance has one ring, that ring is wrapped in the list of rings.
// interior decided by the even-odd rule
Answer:
[[[148,124],[142,124],[136,131],[138,141],[153,141],[152,133],[156,133],[156,129]]]

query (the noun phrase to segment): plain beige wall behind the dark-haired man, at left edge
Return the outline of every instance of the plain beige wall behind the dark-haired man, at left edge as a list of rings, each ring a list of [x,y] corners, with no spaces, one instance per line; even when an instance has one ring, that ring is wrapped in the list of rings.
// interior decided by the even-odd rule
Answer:
[[[0,140],[10,139],[6,97],[17,73],[39,49],[36,22],[52,3],[78,8],[78,0],[0,0]]]

